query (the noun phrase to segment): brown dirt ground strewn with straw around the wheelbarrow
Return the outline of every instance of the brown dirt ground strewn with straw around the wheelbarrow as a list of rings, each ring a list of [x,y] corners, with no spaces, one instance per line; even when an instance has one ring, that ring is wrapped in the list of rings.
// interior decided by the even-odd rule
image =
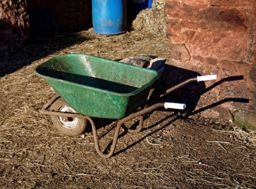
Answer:
[[[256,133],[222,120],[154,111],[145,115],[140,133],[121,129],[109,159],[96,153],[90,128],[77,138],[58,132],[49,116],[38,113],[55,93],[33,70],[74,52],[113,60],[139,53],[168,59],[169,54],[165,38],[139,32],[105,37],[90,29],[37,37],[0,60],[1,188],[256,187]],[[115,122],[97,123],[105,149]]]

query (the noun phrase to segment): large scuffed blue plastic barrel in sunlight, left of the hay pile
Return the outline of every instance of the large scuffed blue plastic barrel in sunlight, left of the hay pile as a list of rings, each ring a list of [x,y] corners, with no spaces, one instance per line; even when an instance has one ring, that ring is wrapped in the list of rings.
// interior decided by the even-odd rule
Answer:
[[[118,35],[127,31],[126,0],[92,0],[93,31]]]

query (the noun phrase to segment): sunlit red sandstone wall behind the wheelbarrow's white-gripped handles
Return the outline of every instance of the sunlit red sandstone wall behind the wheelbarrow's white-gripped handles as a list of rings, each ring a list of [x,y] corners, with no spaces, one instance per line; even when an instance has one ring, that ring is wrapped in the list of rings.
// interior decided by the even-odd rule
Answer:
[[[197,109],[224,102],[206,110],[206,115],[230,118],[231,108],[256,113],[255,8],[255,0],[166,0],[170,64],[202,75],[217,73],[219,80],[244,77],[232,82],[221,80],[202,95]],[[212,84],[208,82],[206,87]],[[248,99],[249,103],[228,98]]]

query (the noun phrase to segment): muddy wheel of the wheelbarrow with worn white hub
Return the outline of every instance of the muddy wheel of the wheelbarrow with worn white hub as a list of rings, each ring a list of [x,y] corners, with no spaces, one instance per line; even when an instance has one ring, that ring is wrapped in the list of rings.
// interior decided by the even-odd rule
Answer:
[[[60,97],[52,103],[50,111],[77,113]],[[86,131],[87,119],[51,115],[51,120],[60,132],[71,137],[77,137]]]

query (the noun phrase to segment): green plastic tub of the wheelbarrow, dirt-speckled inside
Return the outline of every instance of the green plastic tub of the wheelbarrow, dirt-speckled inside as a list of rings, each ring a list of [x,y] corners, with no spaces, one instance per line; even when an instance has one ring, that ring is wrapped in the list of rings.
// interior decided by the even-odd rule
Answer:
[[[82,115],[121,119],[140,107],[157,71],[86,54],[53,58],[35,73]]]

